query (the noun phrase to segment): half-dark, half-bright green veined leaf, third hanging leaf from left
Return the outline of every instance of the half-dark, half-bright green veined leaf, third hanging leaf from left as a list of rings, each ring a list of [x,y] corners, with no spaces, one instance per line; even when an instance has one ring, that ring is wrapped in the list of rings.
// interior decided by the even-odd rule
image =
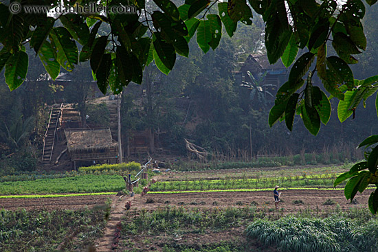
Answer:
[[[71,34],[65,27],[54,27],[50,31],[49,38],[56,52],[56,60],[64,69],[72,71],[74,64],[78,64],[78,47]]]

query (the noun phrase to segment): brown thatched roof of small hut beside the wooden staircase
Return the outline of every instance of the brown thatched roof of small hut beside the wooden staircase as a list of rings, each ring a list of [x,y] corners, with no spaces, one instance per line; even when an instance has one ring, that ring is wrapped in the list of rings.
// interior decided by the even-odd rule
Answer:
[[[65,137],[69,152],[117,148],[117,143],[113,141],[109,128],[67,128],[65,129]]]

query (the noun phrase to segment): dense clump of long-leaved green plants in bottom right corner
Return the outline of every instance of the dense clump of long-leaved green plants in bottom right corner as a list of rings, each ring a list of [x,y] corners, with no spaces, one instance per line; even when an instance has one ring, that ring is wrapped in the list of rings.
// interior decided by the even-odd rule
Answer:
[[[364,223],[332,216],[330,218],[284,217],[280,220],[256,220],[245,233],[279,251],[342,252],[377,251],[378,220]]]

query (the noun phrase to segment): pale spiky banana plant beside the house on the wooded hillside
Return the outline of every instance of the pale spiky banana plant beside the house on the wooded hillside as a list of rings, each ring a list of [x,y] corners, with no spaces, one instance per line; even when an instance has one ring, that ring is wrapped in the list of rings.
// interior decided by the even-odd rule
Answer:
[[[267,95],[274,97],[274,95],[272,95],[267,90],[267,88],[268,87],[274,87],[275,85],[274,84],[263,84],[263,82],[265,80],[265,76],[267,76],[267,73],[268,72],[265,71],[265,73],[263,73],[260,76],[260,78],[258,78],[258,80],[256,80],[256,78],[254,78],[252,73],[250,71],[247,71],[247,75],[249,76],[249,80],[251,80],[251,82],[247,82],[247,81],[241,82],[241,87],[246,87],[247,89],[249,89],[251,91],[251,93],[249,93],[249,100],[252,102],[256,98],[258,103],[263,104],[264,106],[267,106],[267,103],[268,103]]]

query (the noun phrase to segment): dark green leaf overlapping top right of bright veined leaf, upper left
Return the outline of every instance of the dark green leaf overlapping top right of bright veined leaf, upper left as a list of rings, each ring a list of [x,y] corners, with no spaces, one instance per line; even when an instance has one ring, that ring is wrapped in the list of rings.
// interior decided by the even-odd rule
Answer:
[[[60,16],[60,21],[67,28],[72,37],[76,39],[81,45],[85,45],[89,38],[89,28],[85,19],[82,19],[78,14],[66,14]]]

